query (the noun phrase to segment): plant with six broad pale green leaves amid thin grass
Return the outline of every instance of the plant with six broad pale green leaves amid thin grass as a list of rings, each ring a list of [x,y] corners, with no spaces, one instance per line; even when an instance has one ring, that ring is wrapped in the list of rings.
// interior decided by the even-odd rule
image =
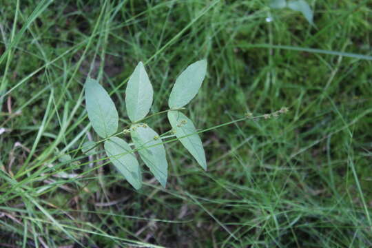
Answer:
[[[169,96],[167,115],[171,132],[194,156],[198,164],[207,169],[205,151],[192,121],[180,110],[198,93],[207,72],[207,61],[201,60],[189,65],[176,79]],[[132,124],[122,132],[118,131],[118,112],[114,102],[98,81],[87,78],[85,102],[87,114],[94,131],[104,140],[107,156],[127,181],[135,188],[142,185],[141,169],[134,152],[138,152],[156,180],[163,187],[167,184],[167,158],[162,135],[157,134],[145,121],[152,106],[154,91],[142,62],[138,63],[127,83],[125,105]],[[158,112],[156,114],[161,114]],[[154,116],[155,114],[152,114]],[[147,116],[147,117],[146,117]],[[130,147],[120,134],[130,134],[135,149]],[[92,142],[83,145],[85,154],[92,152]]]

